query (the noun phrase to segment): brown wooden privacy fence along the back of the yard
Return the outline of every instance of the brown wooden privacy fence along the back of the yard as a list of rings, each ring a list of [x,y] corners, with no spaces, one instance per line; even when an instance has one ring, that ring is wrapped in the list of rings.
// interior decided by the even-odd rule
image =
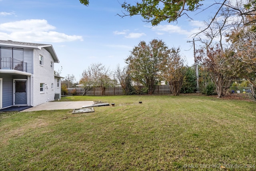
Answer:
[[[140,89],[143,89],[144,86],[140,86]],[[68,88],[68,95],[72,95],[72,92],[76,90],[76,95],[83,95],[84,88]],[[154,88],[153,94],[170,94],[169,85],[156,85]],[[101,95],[101,88],[92,87],[85,95]],[[103,92],[103,95],[124,95],[122,87],[108,87]]]

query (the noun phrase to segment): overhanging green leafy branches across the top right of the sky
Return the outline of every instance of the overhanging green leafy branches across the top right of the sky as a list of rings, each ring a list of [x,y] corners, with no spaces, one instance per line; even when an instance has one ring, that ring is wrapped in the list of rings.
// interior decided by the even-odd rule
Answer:
[[[126,10],[122,15],[118,14],[121,17],[125,16],[134,16],[141,15],[144,18],[145,22],[151,22],[152,26],[157,26],[162,21],[175,22],[181,16],[186,16],[190,18],[188,12],[194,12],[202,8],[202,2],[204,0],[142,0],[141,2],[134,2],[134,4],[129,4],[124,2],[122,4],[122,8]],[[221,16],[219,14],[221,10],[226,10],[230,17],[240,18],[244,20],[247,16],[252,16],[255,14],[256,9],[256,1],[255,0],[220,0],[220,1],[212,1],[212,4],[206,8],[216,6],[216,12],[214,16],[210,19],[210,22],[204,30],[204,32],[208,29],[208,27],[214,24],[214,20]],[[205,9],[201,9],[199,12],[203,12]],[[198,13],[199,13],[198,12]],[[226,14],[228,14],[226,13]],[[202,15],[202,14],[201,14]],[[192,19],[192,18],[190,18]],[[231,25],[240,25],[240,24],[249,24],[255,23],[256,20],[252,20],[250,22],[243,23],[232,23]],[[200,34],[199,32],[198,34]],[[196,36],[198,35],[196,34]]]

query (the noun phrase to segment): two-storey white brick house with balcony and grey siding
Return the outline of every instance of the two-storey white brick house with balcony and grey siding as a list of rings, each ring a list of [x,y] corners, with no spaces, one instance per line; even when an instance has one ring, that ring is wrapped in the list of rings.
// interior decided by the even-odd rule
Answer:
[[[50,44],[0,40],[0,109],[60,98],[62,77],[54,75],[54,63],[59,60]]]

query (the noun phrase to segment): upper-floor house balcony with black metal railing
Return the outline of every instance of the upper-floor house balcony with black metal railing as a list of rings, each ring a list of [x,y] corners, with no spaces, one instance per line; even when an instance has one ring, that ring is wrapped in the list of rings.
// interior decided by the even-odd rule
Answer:
[[[14,58],[0,58],[1,70],[18,70],[27,72],[27,63]]]

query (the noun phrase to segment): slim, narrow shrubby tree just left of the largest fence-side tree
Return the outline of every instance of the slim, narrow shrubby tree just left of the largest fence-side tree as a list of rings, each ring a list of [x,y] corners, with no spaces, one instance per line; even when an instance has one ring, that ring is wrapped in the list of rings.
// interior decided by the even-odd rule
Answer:
[[[133,87],[132,87],[132,78],[129,74],[129,67],[125,66],[124,68],[120,68],[120,65],[118,64],[116,68],[116,78],[120,85],[122,86],[124,90],[125,95],[131,95],[133,93]]]

